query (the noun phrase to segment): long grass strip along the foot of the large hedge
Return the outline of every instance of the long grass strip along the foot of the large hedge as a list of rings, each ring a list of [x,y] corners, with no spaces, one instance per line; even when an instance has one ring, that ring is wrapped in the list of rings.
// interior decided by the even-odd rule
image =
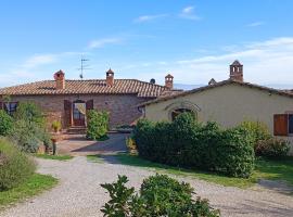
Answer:
[[[293,186],[293,157],[286,157],[280,161],[257,159],[256,169],[247,179],[226,177],[201,170],[171,167],[142,159],[137,155],[119,154],[116,157],[122,164],[125,165],[155,169],[157,173],[194,177],[226,187],[238,187],[245,189],[254,186],[259,179],[284,180]]]

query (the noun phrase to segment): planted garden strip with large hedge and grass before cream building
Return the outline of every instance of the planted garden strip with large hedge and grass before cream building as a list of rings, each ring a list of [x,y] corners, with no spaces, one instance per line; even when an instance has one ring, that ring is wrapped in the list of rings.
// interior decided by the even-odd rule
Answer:
[[[173,123],[142,119],[127,143],[130,150],[137,149],[138,156],[120,155],[122,162],[188,171],[226,186],[247,187],[262,178],[278,179],[273,171],[284,175],[284,167],[292,170],[292,157],[286,156],[289,143],[272,138],[257,122],[222,129],[216,123],[196,123],[187,113]],[[265,169],[264,165],[270,167]],[[282,177],[293,184],[292,176]]]

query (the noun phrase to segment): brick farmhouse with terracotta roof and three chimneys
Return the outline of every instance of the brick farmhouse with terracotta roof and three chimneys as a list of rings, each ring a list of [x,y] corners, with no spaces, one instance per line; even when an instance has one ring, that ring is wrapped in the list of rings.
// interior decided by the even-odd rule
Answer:
[[[20,102],[31,101],[40,105],[48,123],[60,120],[66,129],[85,127],[87,111],[94,108],[110,113],[110,127],[113,128],[131,125],[141,117],[138,104],[180,91],[173,89],[173,79],[167,75],[165,86],[156,85],[154,79],[150,82],[115,79],[114,72],[109,69],[105,79],[67,80],[59,71],[54,80],[0,89],[0,110],[13,114]]]

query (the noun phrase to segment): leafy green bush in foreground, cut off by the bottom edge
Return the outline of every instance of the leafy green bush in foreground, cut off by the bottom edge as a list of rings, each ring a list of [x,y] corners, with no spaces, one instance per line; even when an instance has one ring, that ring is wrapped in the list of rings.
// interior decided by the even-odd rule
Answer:
[[[140,194],[133,194],[133,188],[127,188],[126,176],[119,176],[114,183],[101,184],[111,196],[109,203],[101,209],[104,216],[194,216],[216,217],[207,200],[193,201],[193,189],[188,183],[164,175],[156,175],[143,180]]]

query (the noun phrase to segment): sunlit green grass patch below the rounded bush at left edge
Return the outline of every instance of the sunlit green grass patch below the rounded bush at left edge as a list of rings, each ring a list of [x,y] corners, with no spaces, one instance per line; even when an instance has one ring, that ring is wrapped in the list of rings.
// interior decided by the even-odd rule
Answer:
[[[58,179],[48,175],[34,174],[26,182],[16,188],[0,191],[0,209],[5,206],[21,202],[24,199],[40,194],[41,192],[53,188]]]

